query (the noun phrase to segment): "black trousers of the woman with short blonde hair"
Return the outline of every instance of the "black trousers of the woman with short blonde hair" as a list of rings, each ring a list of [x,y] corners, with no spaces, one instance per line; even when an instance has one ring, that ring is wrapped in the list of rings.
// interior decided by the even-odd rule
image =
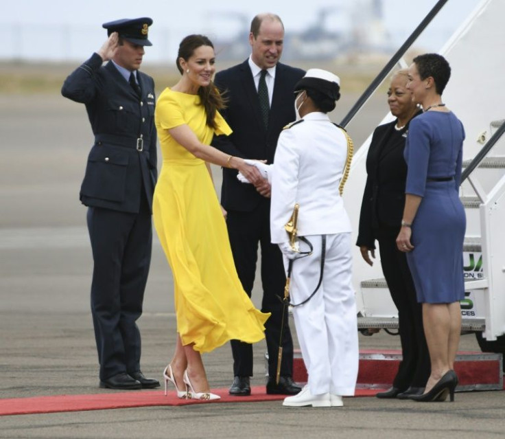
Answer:
[[[392,301],[398,309],[399,335],[403,358],[392,383],[406,390],[409,386],[425,387],[430,376],[430,354],[423,329],[423,309],[417,302],[416,290],[406,255],[397,249],[397,227],[377,230],[379,253],[384,277]]]

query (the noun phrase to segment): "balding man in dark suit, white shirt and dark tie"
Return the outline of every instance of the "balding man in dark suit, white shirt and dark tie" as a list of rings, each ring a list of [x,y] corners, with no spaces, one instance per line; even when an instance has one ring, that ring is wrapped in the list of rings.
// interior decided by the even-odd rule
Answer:
[[[220,71],[215,85],[228,99],[222,111],[233,129],[229,137],[215,137],[213,145],[233,156],[274,160],[277,138],[283,127],[295,120],[294,86],[305,72],[279,63],[283,49],[284,26],[279,16],[259,14],[251,23],[251,55],[244,63]],[[266,322],[268,348],[268,394],[297,394],[301,387],[292,380],[293,341],[287,319],[283,327],[281,379],[276,383],[277,359],[285,271],[281,251],[270,243],[270,184],[265,179],[255,188],[240,183],[237,171],[223,169],[221,203],[228,212],[226,224],[235,267],[248,295],[256,273],[258,244],[261,245],[261,311],[272,313]],[[250,394],[253,376],[253,347],[231,341],[233,374],[230,394]]]

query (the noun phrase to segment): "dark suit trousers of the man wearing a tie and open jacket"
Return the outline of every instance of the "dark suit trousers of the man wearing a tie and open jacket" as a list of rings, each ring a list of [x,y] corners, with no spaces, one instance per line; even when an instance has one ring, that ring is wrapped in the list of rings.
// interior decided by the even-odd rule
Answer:
[[[252,212],[228,211],[226,225],[235,268],[249,297],[255,281],[258,244],[261,245],[261,284],[263,286],[261,311],[272,313],[265,324],[265,338],[268,349],[268,374],[275,376],[283,313],[283,303],[279,297],[284,295],[286,278],[279,246],[270,242],[270,201],[262,200]],[[292,376],[293,339],[288,319],[284,320],[282,346],[281,375]],[[231,349],[233,374],[253,376],[253,346],[232,340]]]

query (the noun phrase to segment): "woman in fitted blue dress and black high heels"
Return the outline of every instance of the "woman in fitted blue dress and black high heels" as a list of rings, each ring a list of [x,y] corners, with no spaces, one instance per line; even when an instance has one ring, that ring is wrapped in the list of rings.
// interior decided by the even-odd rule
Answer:
[[[405,158],[406,202],[397,238],[423,304],[432,372],[425,393],[415,401],[454,401],[458,377],[454,361],[460,339],[460,300],[465,297],[463,240],[465,210],[459,199],[462,166],[462,123],[442,102],[451,75],[447,60],[438,54],[414,58],[407,89],[423,114],[410,122]]]

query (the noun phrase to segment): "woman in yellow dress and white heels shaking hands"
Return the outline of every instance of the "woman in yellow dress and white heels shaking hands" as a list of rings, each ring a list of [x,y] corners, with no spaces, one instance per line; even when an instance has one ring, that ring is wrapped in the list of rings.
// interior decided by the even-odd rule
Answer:
[[[179,398],[218,399],[211,394],[201,352],[231,339],[264,338],[269,314],[255,308],[238,278],[223,212],[209,163],[235,168],[253,183],[261,175],[243,159],[209,146],[231,128],[212,82],[215,54],[206,36],[189,35],[179,46],[182,77],[156,102],[156,130],[163,166],[154,190],[154,226],[174,276],[177,344],[165,368]]]

